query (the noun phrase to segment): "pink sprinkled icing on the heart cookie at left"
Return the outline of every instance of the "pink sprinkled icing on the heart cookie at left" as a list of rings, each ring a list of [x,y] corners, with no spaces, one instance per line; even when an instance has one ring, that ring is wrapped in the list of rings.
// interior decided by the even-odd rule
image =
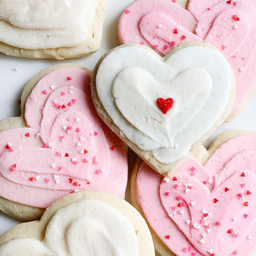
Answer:
[[[73,79],[68,80],[68,76]],[[75,189],[124,196],[128,173],[124,143],[98,117],[90,81],[86,71],[65,67],[36,84],[25,108],[30,127],[0,132],[0,196],[41,208]],[[51,89],[51,85],[55,87]],[[42,93],[44,90],[47,94]],[[57,108],[54,100],[66,108]],[[29,137],[23,138],[27,133]],[[7,143],[12,143],[12,152],[6,148]],[[81,154],[84,149],[88,152]],[[62,157],[61,153],[68,156]],[[13,164],[16,167],[11,171]]]

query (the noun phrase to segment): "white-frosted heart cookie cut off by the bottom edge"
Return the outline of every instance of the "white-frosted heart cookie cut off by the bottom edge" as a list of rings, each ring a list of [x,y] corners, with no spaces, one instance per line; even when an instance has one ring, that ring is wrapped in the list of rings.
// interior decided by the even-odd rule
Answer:
[[[77,192],[47,208],[40,221],[0,236],[1,256],[153,256],[153,241],[140,213],[103,192]]]

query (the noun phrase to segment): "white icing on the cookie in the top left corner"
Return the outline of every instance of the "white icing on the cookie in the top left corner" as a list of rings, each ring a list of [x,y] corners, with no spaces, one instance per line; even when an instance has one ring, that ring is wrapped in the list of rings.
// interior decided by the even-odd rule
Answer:
[[[0,41],[24,49],[82,44],[98,0],[2,0]]]

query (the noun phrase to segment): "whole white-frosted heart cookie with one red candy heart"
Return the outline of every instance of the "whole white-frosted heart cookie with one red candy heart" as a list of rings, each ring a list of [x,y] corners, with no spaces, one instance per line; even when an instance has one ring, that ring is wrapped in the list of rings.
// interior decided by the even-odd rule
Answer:
[[[143,45],[119,46],[99,60],[91,85],[103,121],[164,175],[226,120],[235,94],[227,60],[203,42],[164,58]]]

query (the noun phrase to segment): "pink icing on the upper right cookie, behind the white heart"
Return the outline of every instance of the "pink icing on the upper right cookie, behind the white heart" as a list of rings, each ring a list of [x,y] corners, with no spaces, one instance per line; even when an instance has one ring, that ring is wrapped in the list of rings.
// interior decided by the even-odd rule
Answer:
[[[240,0],[236,5],[233,2],[190,0],[187,11],[170,0],[137,0],[127,7],[130,13],[121,15],[119,38],[122,44],[143,42],[161,56],[174,47],[174,41],[178,44],[204,40],[215,45],[235,74],[236,97],[231,111],[234,114],[256,81],[256,4],[254,0]],[[197,35],[189,27],[196,23]],[[174,28],[178,34],[173,33]]]

